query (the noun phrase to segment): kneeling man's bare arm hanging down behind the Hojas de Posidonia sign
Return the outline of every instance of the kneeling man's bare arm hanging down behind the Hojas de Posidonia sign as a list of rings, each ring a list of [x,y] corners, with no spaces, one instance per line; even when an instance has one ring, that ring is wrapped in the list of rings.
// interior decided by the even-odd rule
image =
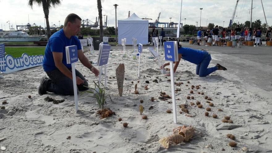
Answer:
[[[73,79],[72,72],[68,70],[68,68],[62,63],[62,53],[61,52],[52,52],[53,58],[55,62],[55,66],[68,78]],[[82,79],[76,77],[76,83],[81,84],[84,83]]]

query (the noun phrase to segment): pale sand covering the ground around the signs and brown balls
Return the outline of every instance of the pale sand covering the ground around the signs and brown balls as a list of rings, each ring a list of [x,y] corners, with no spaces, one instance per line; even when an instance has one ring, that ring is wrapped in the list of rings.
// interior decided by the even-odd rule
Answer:
[[[105,107],[113,110],[116,115],[105,119],[100,119],[96,115],[98,104],[96,100],[87,97],[79,99],[79,113],[74,113],[74,97],[59,96],[48,93],[39,96],[37,87],[40,79],[46,76],[42,66],[19,71],[13,74],[4,74],[0,79],[0,101],[6,100],[3,105],[5,110],[0,110],[0,146],[5,146],[6,151],[20,152],[243,152],[241,149],[247,147],[250,152],[272,152],[272,106],[271,92],[256,89],[247,83],[237,85],[233,82],[236,76],[231,71],[216,71],[208,77],[195,76],[195,65],[182,61],[175,76],[180,77],[183,82],[181,91],[176,93],[177,105],[194,103],[199,100],[203,108],[196,106],[189,107],[189,115],[179,114],[181,108],[177,106],[177,121],[173,123],[173,114],[166,113],[166,109],[172,110],[172,104],[158,100],[159,92],[165,91],[171,95],[170,82],[163,74],[160,74],[158,65],[153,59],[148,59],[151,54],[147,50],[143,51],[141,78],[138,79],[138,60],[133,60],[128,55],[122,58],[120,50],[111,51],[112,55],[108,62],[108,77],[115,76],[115,69],[120,63],[125,64],[125,78],[123,97],[119,97],[117,81],[108,79],[107,93],[112,97],[113,102],[107,99]],[[131,50],[129,51],[131,53]],[[128,53],[128,54],[129,54]],[[97,60],[95,55],[86,56],[92,60]],[[163,61],[163,55],[160,57]],[[224,60],[223,57],[215,57],[215,60]],[[212,60],[213,62],[217,62]],[[214,66],[214,64],[210,64]],[[78,69],[86,75],[89,84],[97,81],[94,75],[82,64],[77,63]],[[145,77],[144,77],[145,76]],[[103,76],[104,77],[104,76]],[[152,80],[159,77],[162,81],[154,83]],[[139,95],[133,94],[134,85],[138,83]],[[149,89],[144,90],[148,80]],[[187,80],[190,83],[187,83]],[[134,81],[132,84],[131,81]],[[190,94],[190,88],[185,85],[201,85],[200,89],[194,89]],[[197,92],[204,92],[200,95]],[[29,99],[28,95],[32,98]],[[194,96],[194,100],[187,100],[186,96]],[[53,104],[46,102],[45,97],[65,99],[65,102]],[[86,95],[83,95],[86,96]],[[83,97],[81,96],[81,97]],[[151,96],[157,100],[151,102]],[[209,96],[213,100],[214,107],[211,107],[210,115],[205,117],[205,108],[208,103],[204,96]],[[79,96],[80,98],[80,96]],[[144,115],[148,119],[143,120],[139,115],[139,100],[144,102]],[[168,100],[169,102],[171,100]],[[2,103],[0,104],[2,106]],[[149,110],[150,106],[154,109]],[[218,112],[217,109],[223,109]],[[9,113],[8,113],[9,112]],[[14,113],[14,114],[13,114]],[[215,113],[218,118],[211,115]],[[223,123],[224,116],[230,116],[231,123]],[[122,121],[119,122],[118,118]],[[122,123],[127,122],[128,127],[124,128]],[[193,125],[198,130],[190,142],[181,143],[176,146],[164,149],[159,143],[159,138],[172,134],[172,130],[182,125]],[[235,135],[237,147],[228,146],[231,139],[226,138],[226,134]],[[66,139],[71,136],[71,139]],[[1,138],[5,138],[1,141]],[[225,151],[222,151],[222,148]]]

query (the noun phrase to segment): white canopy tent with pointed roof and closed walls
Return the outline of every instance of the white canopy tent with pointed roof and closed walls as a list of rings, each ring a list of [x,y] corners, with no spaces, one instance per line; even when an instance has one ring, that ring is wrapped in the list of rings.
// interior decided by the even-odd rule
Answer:
[[[137,44],[148,43],[148,20],[139,18],[135,13],[127,19],[118,20],[118,44],[126,38],[126,45],[132,45],[132,38],[137,39]]]

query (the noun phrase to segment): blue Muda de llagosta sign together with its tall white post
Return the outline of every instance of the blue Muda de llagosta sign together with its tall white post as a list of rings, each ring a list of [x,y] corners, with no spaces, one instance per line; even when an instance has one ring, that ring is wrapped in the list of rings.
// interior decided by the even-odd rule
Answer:
[[[164,57],[165,60],[170,62],[170,78],[171,78],[171,91],[172,91],[172,106],[173,106],[173,119],[176,123],[176,98],[175,98],[175,85],[174,85],[174,69],[173,62],[178,61],[177,41],[167,41],[164,43]]]

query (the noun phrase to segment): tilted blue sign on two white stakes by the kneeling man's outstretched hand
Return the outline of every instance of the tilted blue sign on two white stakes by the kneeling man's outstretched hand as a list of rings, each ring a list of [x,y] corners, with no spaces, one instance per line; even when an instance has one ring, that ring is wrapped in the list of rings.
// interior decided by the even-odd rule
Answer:
[[[102,66],[104,65],[105,69],[105,87],[107,87],[107,63],[108,63],[108,56],[110,52],[110,45],[104,45],[101,43],[99,45],[99,53],[98,53],[98,59],[97,59],[97,65],[100,66],[100,73],[99,73],[99,80],[98,85],[100,85],[101,81],[101,75],[102,75]]]

